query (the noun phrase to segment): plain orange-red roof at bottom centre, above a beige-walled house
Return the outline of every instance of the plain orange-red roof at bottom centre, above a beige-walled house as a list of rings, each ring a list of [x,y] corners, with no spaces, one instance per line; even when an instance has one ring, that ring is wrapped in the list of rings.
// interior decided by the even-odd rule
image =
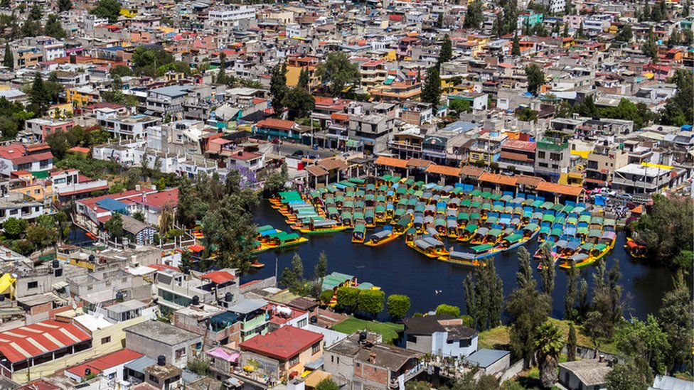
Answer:
[[[259,335],[241,343],[242,351],[286,361],[323,340],[323,335],[293,326],[280,327],[267,335]]]

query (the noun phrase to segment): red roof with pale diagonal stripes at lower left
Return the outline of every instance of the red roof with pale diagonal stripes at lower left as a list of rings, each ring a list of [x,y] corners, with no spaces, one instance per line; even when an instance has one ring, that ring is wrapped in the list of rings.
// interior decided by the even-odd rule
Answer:
[[[91,338],[76,325],[48,320],[0,332],[0,353],[15,363]]]

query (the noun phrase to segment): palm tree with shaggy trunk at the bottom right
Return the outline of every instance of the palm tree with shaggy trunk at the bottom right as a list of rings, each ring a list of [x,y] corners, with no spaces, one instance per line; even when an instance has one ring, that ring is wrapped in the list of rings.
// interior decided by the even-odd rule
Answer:
[[[557,325],[549,321],[540,325],[535,338],[535,354],[540,367],[540,382],[545,388],[557,383],[557,364],[563,347],[564,335]]]

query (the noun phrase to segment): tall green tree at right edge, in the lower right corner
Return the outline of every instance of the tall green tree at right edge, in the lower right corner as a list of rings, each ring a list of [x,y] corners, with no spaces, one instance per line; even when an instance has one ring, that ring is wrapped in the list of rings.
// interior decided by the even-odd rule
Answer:
[[[658,323],[667,335],[669,347],[665,354],[668,369],[690,359],[694,334],[694,305],[682,271],[673,276],[673,288],[663,296],[661,309],[658,311]]]

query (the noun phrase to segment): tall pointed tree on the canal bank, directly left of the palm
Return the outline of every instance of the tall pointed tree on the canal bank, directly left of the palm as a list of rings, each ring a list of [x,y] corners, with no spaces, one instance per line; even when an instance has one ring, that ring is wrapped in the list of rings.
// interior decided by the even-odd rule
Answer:
[[[518,249],[516,284],[506,301],[506,313],[511,318],[509,337],[511,351],[523,358],[523,367],[527,369],[535,357],[537,330],[547,320],[551,304],[550,298],[536,289],[530,254],[523,247]]]

